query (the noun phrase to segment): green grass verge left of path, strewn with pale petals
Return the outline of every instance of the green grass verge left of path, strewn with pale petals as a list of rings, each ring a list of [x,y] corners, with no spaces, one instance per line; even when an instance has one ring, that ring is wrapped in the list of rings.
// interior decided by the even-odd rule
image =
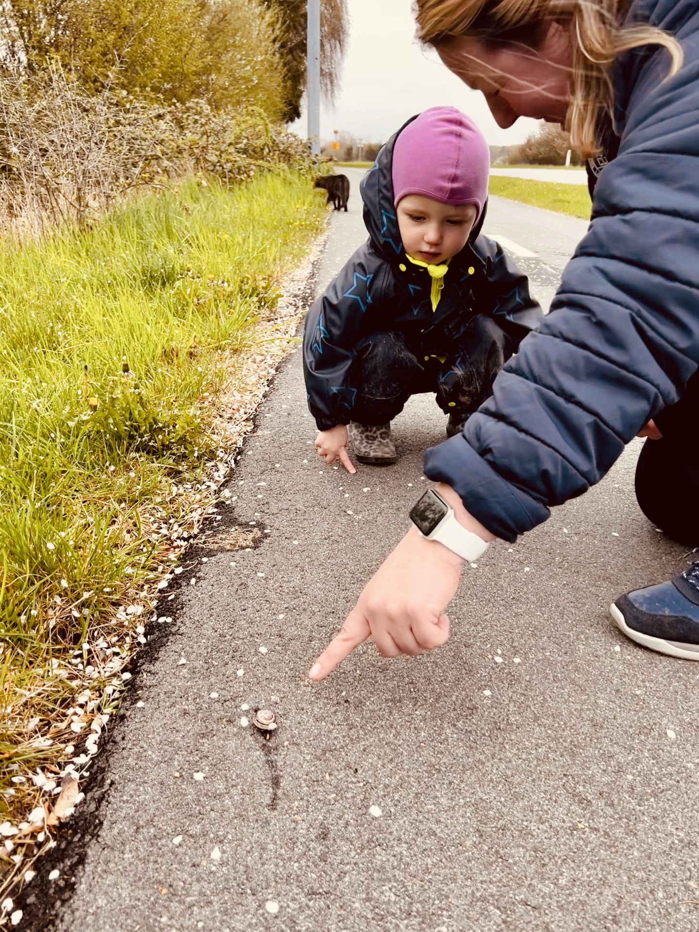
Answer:
[[[324,218],[309,176],[280,170],[0,247],[6,878],[51,843],[49,801],[96,752],[149,596],[211,501],[232,354]]]

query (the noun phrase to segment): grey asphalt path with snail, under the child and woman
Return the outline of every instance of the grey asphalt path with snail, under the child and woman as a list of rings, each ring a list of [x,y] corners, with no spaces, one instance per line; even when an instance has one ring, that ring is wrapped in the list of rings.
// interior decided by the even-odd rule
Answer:
[[[363,240],[359,174],[319,287]],[[488,229],[555,268],[581,226],[494,200]],[[238,499],[188,556],[74,838],[33,882],[35,927],[699,927],[697,666],[637,647],[608,616],[684,559],[637,509],[636,443],[590,493],[464,571],[445,648],[388,661],[367,644],[308,684],[403,535],[422,451],[444,429],[418,396],[394,422],[394,467],[329,468],[300,353],[282,364],[229,486]],[[216,549],[253,526],[259,546]],[[268,741],[242,723],[258,707],[277,715]]]

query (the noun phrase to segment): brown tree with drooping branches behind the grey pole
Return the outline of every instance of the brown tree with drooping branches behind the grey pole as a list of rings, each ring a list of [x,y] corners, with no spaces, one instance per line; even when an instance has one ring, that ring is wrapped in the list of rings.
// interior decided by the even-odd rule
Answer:
[[[308,0],[263,0],[281,21],[280,49],[286,68],[284,118],[301,116],[301,98],[306,90],[308,54]],[[347,0],[321,0],[321,88],[325,99],[335,99],[348,36]]]

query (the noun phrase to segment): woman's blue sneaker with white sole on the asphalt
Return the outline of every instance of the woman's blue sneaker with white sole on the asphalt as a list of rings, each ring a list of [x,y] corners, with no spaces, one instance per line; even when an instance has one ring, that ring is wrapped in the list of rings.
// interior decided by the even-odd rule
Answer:
[[[669,583],[620,596],[611,617],[626,637],[651,651],[699,660],[699,548],[692,566]]]

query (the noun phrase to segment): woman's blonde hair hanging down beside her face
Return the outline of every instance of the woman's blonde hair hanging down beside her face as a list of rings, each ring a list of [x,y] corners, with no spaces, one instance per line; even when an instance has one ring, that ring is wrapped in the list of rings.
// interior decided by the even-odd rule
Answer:
[[[553,21],[568,21],[574,39],[568,129],[583,157],[598,155],[600,108],[611,111],[610,69],[616,55],[657,45],[670,54],[668,77],[682,66],[682,49],[670,34],[648,24],[623,28],[628,0],[415,0],[418,38],[439,46],[469,35],[491,43],[536,48]]]

